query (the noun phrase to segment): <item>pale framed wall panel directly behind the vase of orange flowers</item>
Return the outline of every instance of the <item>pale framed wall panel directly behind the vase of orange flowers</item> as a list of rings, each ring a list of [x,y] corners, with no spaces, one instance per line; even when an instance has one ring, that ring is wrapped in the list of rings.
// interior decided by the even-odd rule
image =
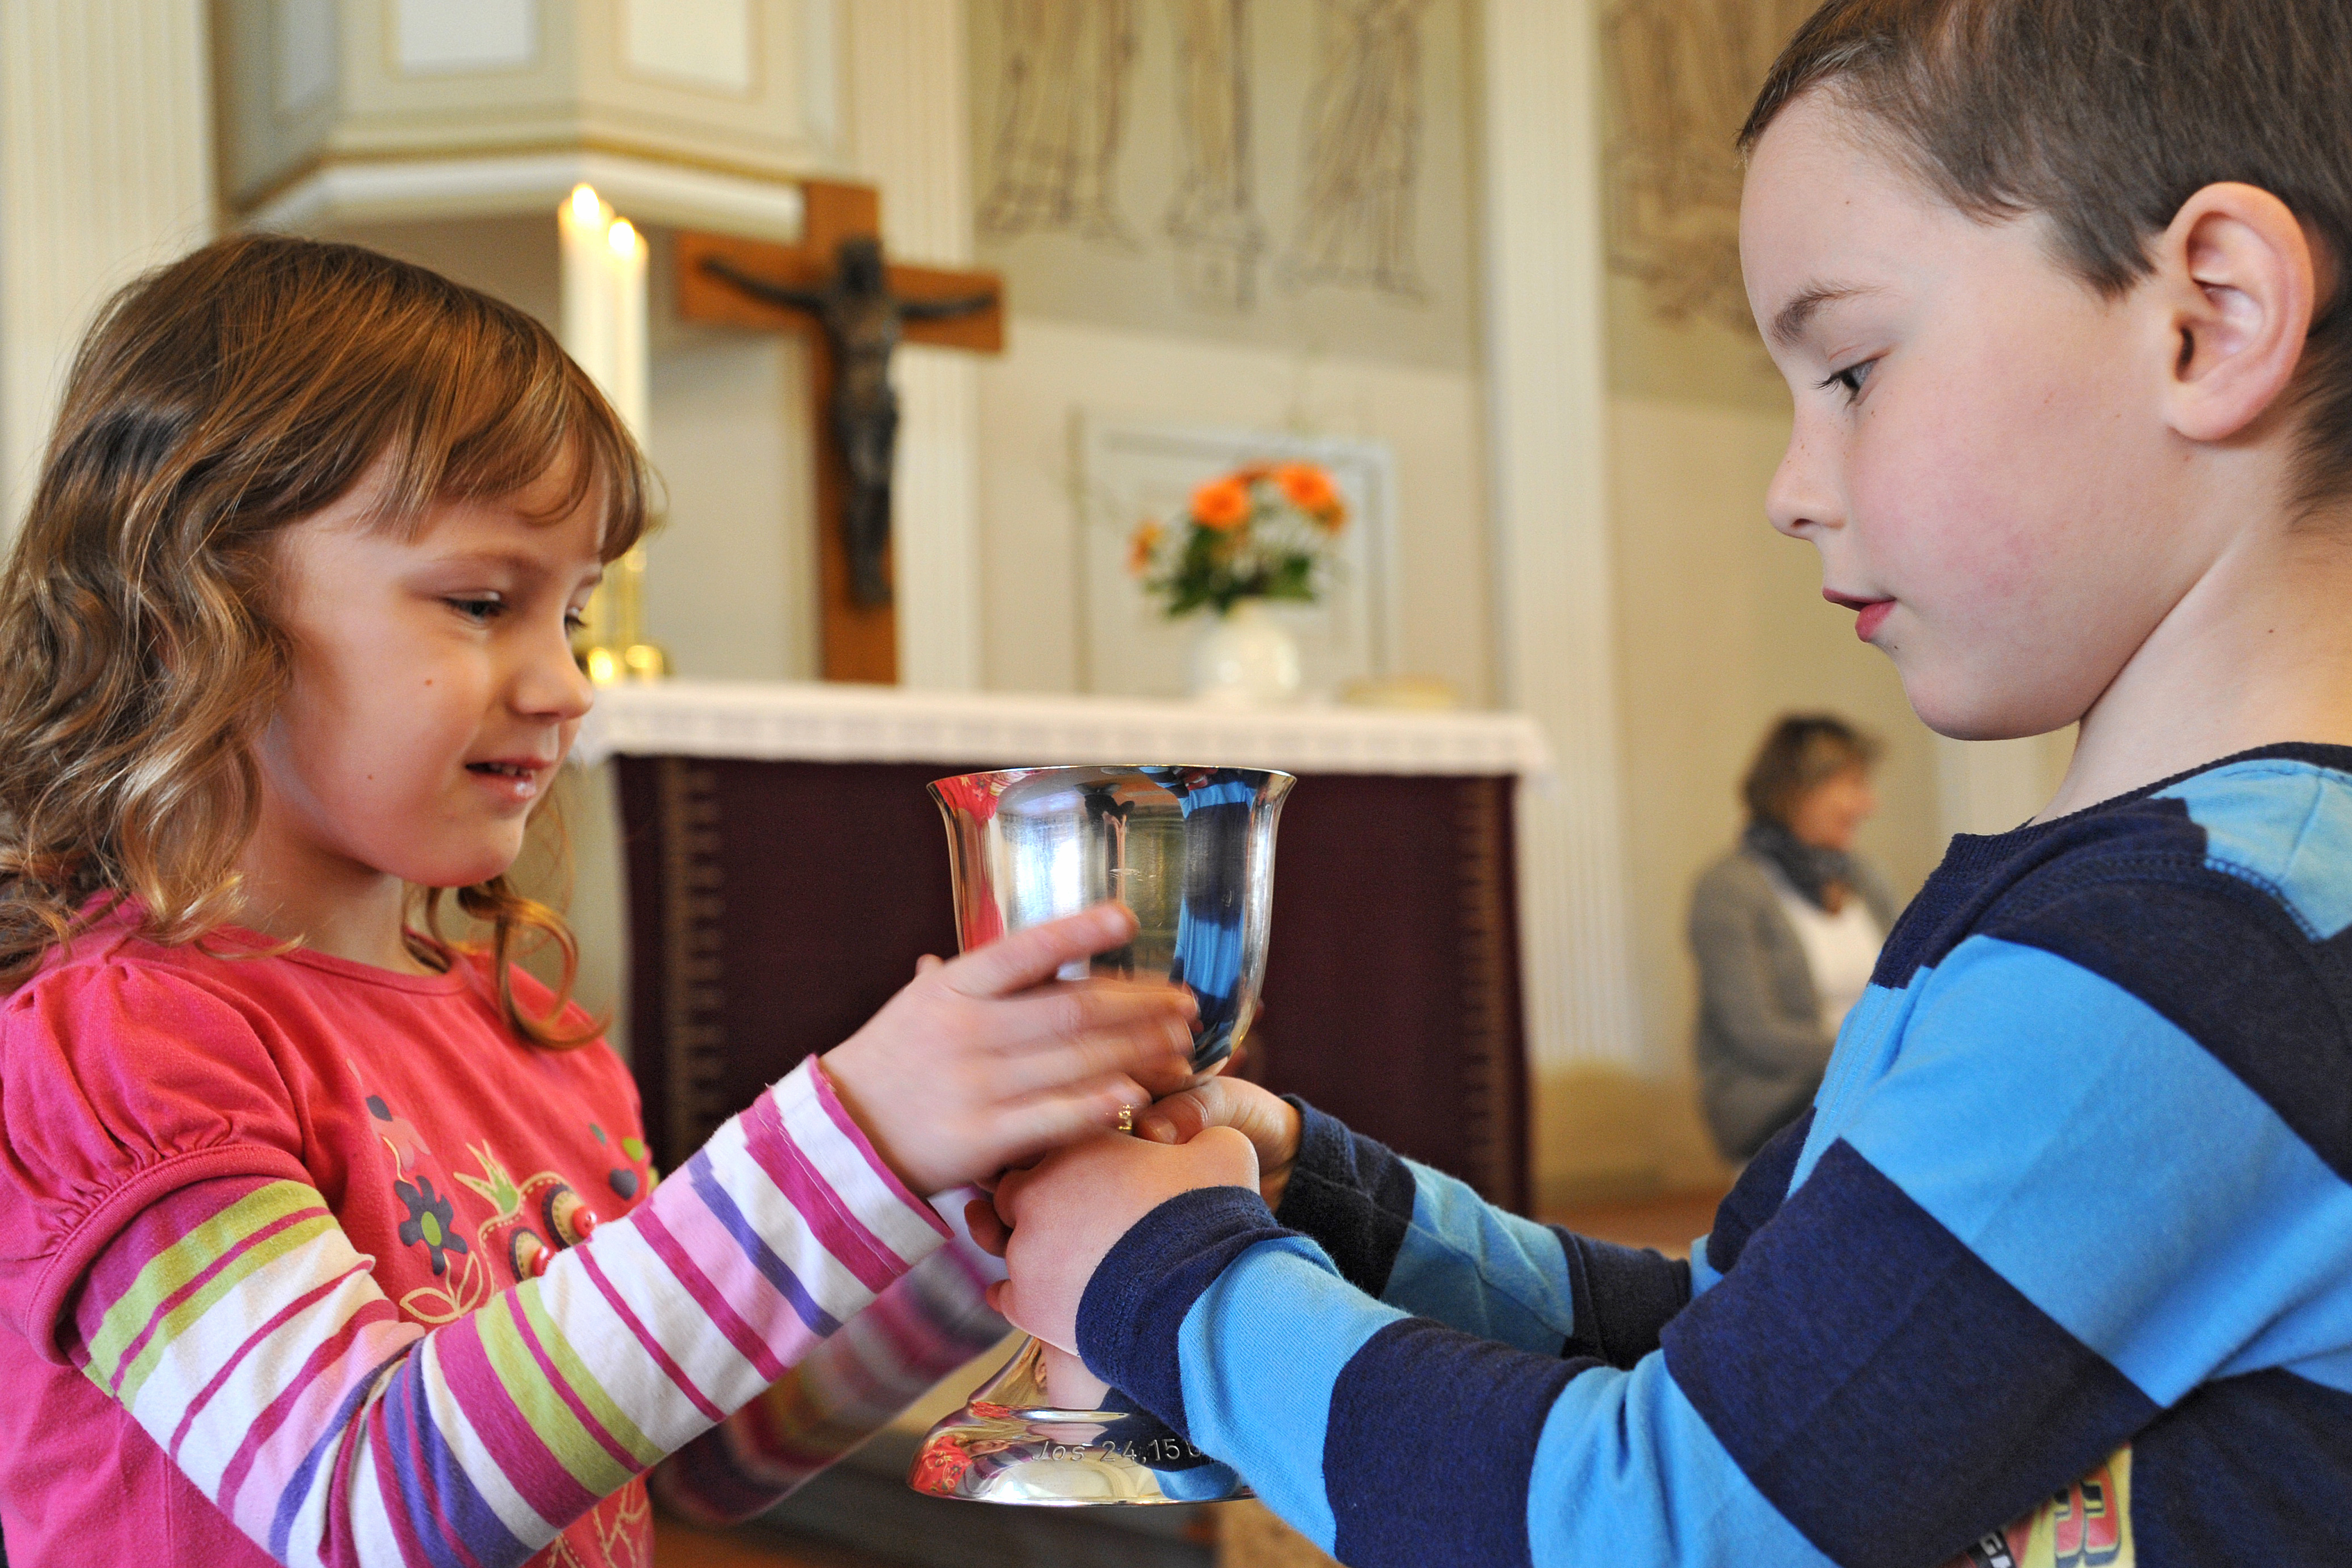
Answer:
[[[1388,442],[1176,425],[1087,414],[1077,421],[1080,682],[1108,696],[1183,696],[1202,611],[1171,621],[1129,571],[1143,522],[1174,524],[1192,489],[1247,463],[1317,463],[1348,503],[1348,524],[1315,604],[1268,611],[1298,639],[1305,693],[1329,696],[1395,665],[1395,496]]]

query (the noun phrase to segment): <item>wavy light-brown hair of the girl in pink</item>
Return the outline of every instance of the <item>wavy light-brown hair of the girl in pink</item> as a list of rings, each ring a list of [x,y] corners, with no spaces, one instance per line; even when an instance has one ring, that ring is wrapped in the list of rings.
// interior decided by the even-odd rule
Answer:
[[[555,515],[602,496],[600,552],[647,527],[644,456],[536,320],[355,244],[245,235],[148,273],[82,339],[31,510],[0,576],[0,994],[129,898],[139,933],[193,943],[238,910],[261,809],[254,736],[287,689],[270,545],[376,463],[376,524],[437,501],[569,477]],[[440,889],[409,950],[449,969]],[[96,900],[96,903],[94,903]],[[506,877],[456,891],[489,926],[515,1034],[557,1018],[579,950]],[[541,1018],[508,957],[562,950]]]

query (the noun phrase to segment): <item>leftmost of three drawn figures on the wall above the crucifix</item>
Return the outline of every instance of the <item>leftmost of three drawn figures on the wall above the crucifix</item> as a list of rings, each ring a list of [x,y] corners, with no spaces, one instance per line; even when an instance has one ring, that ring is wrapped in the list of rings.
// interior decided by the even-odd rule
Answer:
[[[1004,0],[995,179],[983,235],[1065,230],[1134,247],[1120,216],[1120,136],[1136,61],[1136,0]]]

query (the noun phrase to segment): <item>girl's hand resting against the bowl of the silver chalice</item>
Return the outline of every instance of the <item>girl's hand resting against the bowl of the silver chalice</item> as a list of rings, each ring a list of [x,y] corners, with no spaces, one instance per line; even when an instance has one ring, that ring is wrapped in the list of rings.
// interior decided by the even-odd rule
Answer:
[[[1200,1006],[1174,985],[1054,983],[1127,943],[1103,903],[1014,931],[915,980],[826,1051],[823,1070],[875,1152],[922,1197],[1103,1131],[1190,1077]]]

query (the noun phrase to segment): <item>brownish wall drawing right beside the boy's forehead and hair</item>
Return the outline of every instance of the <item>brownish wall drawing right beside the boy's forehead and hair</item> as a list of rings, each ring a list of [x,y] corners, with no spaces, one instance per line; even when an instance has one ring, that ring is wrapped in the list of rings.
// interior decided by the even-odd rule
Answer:
[[[1733,139],[1816,0],[1616,0],[1602,21],[1609,266],[1668,322],[1752,334]]]

